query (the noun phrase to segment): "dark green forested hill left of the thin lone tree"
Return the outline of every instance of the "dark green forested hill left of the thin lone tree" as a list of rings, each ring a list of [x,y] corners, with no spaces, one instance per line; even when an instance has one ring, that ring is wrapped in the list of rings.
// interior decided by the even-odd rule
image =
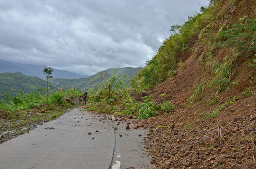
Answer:
[[[38,78],[26,76],[20,72],[0,73],[0,99],[4,99],[4,93],[10,93],[10,97],[17,96],[17,92],[35,92],[40,88],[46,88],[46,81]],[[12,90],[13,89],[13,90]]]

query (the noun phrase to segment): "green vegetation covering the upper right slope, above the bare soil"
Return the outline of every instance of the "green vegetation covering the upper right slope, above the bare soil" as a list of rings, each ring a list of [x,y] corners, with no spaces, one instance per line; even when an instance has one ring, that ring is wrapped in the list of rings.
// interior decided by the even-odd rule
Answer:
[[[250,62],[255,59],[255,8],[252,7],[254,11],[242,18],[235,20],[230,17],[234,8],[243,6],[243,3],[247,2],[211,1],[208,8],[201,8],[203,13],[189,17],[189,21],[182,26],[172,26],[170,31],[173,34],[163,42],[155,56],[147,62],[147,66],[131,80],[132,87],[149,89],[167,78],[176,76],[177,68],[182,67],[181,70],[184,70],[182,57],[189,54],[185,52],[193,52],[195,59],[203,58],[202,68],[212,70],[212,78],[199,84],[195,95],[200,94],[202,85],[203,88],[214,86],[217,93],[230,87],[233,70],[241,57],[251,59]],[[252,4],[255,7],[255,3]],[[231,11],[227,11],[227,6],[231,7]],[[247,10],[246,7],[243,10]],[[192,44],[195,38],[199,40]],[[215,57],[222,48],[228,52],[220,61]],[[190,101],[196,100],[195,95]]]

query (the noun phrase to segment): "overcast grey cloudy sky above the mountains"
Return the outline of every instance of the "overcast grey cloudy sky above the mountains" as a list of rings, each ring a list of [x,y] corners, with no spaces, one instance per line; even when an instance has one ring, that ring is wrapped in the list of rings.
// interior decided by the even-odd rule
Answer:
[[[144,67],[209,0],[0,0],[0,59],[79,74]]]

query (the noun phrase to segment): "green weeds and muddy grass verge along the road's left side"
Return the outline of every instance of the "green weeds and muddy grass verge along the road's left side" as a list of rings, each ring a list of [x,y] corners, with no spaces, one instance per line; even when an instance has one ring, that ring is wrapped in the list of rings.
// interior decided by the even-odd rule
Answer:
[[[5,92],[5,99],[0,99],[0,143],[56,119],[66,110],[78,106],[69,101],[71,97],[82,95],[76,88],[51,90],[47,95],[43,88],[29,94],[18,92],[16,88],[13,91],[17,96],[10,97],[10,93]]]

